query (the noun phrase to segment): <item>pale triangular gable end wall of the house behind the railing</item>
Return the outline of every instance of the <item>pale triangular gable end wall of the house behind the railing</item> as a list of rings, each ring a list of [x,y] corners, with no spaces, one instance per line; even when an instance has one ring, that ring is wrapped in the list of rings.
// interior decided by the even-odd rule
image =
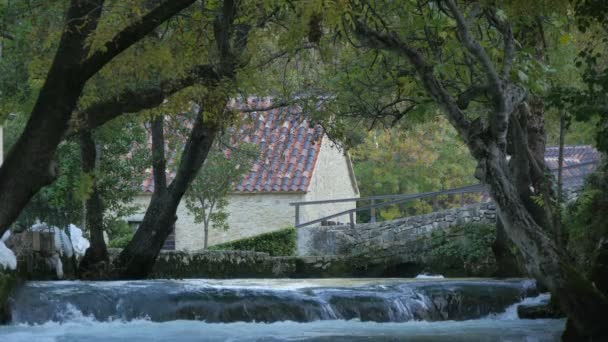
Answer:
[[[321,151],[308,187],[305,201],[320,201],[359,197],[356,181],[351,177],[349,158],[327,136],[323,137]],[[354,177],[354,175],[353,175]],[[300,209],[300,222],[304,223],[323,216],[355,208],[355,202],[307,205]],[[346,223],[348,215],[330,219]]]

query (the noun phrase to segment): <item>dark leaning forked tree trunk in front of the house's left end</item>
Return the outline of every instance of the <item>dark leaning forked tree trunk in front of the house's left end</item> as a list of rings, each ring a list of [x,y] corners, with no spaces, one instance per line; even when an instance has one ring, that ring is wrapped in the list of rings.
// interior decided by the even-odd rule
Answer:
[[[223,1],[222,10],[216,15],[213,24],[215,43],[220,56],[218,61],[219,76],[224,81],[234,80],[239,57],[247,43],[248,29],[245,29],[245,26],[240,27],[240,30],[234,29],[233,22],[236,12],[236,1]],[[238,39],[232,40],[235,31],[239,31]],[[161,144],[159,141],[164,140],[164,138],[162,129],[160,131],[158,127],[153,129],[153,149],[157,151],[163,148],[163,163],[162,165],[156,163],[153,165],[155,186],[150,205],[135,236],[115,262],[120,278],[137,279],[148,275],[156,262],[163,243],[171,233],[173,224],[177,220],[177,206],[207,158],[211,145],[220,130],[222,121],[220,114],[224,113],[228,103],[223,93],[214,93],[213,91],[212,93],[210,97],[213,97],[213,99],[210,99],[208,103],[200,104],[190,136],[184,146],[175,179],[167,188],[157,186],[158,183],[156,183],[158,178],[162,185],[166,184],[166,181],[163,181],[165,175],[164,142]],[[217,117],[214,120],[205,120],[203,118],[203,106],[208,107],[207,112],[218,114]],[[156,131],[156,134],[154,134],[154,131]],[[155,135],[157,136],[156,143]],[[160,160],[157,159],[157,161]]]

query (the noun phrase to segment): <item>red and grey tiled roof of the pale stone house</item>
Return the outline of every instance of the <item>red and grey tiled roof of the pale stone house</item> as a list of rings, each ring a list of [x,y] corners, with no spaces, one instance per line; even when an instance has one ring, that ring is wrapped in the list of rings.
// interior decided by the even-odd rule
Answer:
[[[255,144],[260,150],[260,157],[249,173],[235,184],[235,192],[308,190],[321,148],[323,129],[319,125],[311,125],[310,113],[303,112],[298,105],[251,111],[272,105],[272,100],[268,98],[249,98],[247,102],[232,101],[229,104],[240,110],[244,119],[236,135],[242,142]],[[151,170],[148,172],[151,173]],[[173,177],[175,172],[168,170],[167,181],[170,182]],[[144,180],[142,188],[144,192],[154,191],[152,175]]]

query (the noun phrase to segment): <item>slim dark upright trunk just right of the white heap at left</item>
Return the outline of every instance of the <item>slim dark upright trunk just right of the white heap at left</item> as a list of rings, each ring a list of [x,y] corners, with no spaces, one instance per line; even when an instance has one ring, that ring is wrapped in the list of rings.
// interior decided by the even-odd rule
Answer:
[[[103,238],[103,202],[97,187],[95,167],[98,160],[97,147],[90,130],[80,132],[80,153],[82,157],[82,171],[93,177],[91,193],[86,200],[86,227],[89,230],[91,246],[87,249],[80,262],[80,272],[84,274],[91,271],[101,262],[109,261],[108,249]]]

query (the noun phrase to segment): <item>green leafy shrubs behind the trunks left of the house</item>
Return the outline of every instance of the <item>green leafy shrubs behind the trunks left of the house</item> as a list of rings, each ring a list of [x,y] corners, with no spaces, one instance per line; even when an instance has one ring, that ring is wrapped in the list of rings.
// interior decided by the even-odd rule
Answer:
[[[23,131],[27,116],[15,113],[5,125],[4,148],[8,150]],[[149,164],[143,127],[128,118],[109,122],[95,134],[99,161],[95,179],[108,221],[132,214],[130,202],[141,191]],[[59,227],[82,220],[82,208],[92,186],[92,176],[82,172],[78,140],[68,138],[57,151],[58,178],[36,194],[16,224],[31,226],[37,219]],[[108,228],[108,227],[105,227]]]

